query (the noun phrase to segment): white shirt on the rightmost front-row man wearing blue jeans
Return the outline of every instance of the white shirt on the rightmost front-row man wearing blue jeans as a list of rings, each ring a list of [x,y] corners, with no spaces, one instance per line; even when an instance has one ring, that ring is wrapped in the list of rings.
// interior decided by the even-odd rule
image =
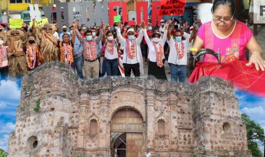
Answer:
[[[188,40],[182,40],[181,42],[184,42],[184,56],[183,58],[179,58],[178,53],[176,52],[175,43],[176,41],[172,38],[167,43],[169,44],[169,57],[168,57],[168,63],[172,63],[174,65],[187,65],[187,55],[188,55]],[[181,42],[177,42],[179,49],[181,50]]]

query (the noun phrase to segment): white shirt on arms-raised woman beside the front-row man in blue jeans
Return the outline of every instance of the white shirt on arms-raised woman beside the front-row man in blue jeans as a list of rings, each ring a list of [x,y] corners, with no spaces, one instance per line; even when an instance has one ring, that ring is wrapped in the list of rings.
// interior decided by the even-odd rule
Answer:
[[[148,58],[151,62],[156,62],[156,50],[155,47],[153,47],[153,43],[150,39],[149,36],[147,35],[146,29],[144,29],[144,40],[146,41],[147,45],[148,45],[148,49],[149,49],[149,53],[148,53]],[[167,31],[165,31],[162,40],[161,40],[161,44],[162,44],[162,49],[164,50],[164,45],[165,42],[167,41]],[[155,43],[156,44],[156,43]],[[156,44],[156,47],[159,49],[159,44]],[[163,59],[165,58],[164,54],[163,54]]]

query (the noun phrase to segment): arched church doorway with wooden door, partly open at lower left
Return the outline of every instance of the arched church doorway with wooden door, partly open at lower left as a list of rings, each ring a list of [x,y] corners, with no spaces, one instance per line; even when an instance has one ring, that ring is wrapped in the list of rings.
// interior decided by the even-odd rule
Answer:
[[[132,108],[123,108],[112,116],[112,151],[117,157],[137,157],[142,154],[144,122]],[[125,151],[125,152],[124,152]]]

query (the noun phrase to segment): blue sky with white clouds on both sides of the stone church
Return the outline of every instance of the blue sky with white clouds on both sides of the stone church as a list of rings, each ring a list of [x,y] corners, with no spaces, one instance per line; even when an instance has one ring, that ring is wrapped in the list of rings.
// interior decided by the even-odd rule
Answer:
[[[0,81],[0,149],[7,151],[8,137],[15,131],[15,112],[20,104],[20,81]],[[250,119],[265,129],[265,98],[256,97],[246,92],[235,90],[239,98],[241,113],[246,113]],[[264,146],[259,144],[264,152]]]

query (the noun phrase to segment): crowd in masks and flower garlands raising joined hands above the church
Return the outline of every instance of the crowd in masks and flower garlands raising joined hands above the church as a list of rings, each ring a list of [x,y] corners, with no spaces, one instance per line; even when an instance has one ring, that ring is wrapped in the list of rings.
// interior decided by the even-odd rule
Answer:
[[[189,48],[201,25],[185,20],[160,21],[151,26],[142,22],[129,26],[71,26],[56,24],[22,28],[0,28],[1,79],[29,74],[44,63],[59,60],[73,67],[79,79],[107,76],[140,76],[144,64],[148,75],[167,80],[165,62],[170,65],[171,81],[185,82]],[[100,62],[100,58],[103,60]]]

